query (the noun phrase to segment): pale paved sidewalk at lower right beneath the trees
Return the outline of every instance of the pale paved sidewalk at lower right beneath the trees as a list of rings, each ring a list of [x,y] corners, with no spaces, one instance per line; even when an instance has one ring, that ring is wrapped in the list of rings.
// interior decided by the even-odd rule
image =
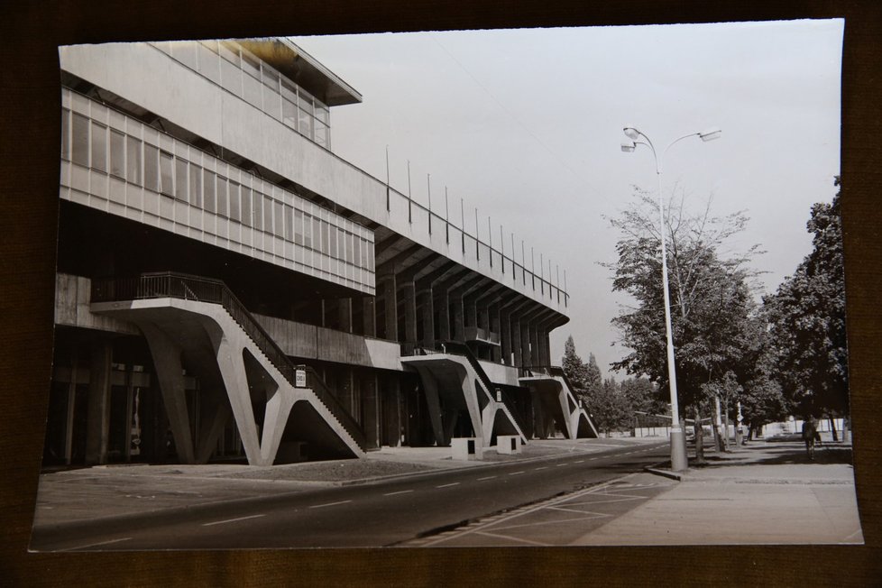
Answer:
[[[850,446],[752,441],[571,545],[861,544]],[[671,475],[669,471],[658,471]]]

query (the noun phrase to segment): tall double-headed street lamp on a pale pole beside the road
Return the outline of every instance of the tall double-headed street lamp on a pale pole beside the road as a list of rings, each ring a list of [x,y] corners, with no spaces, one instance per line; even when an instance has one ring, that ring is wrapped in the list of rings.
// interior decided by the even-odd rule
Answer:
[[[662,285],[664,286],[665,292],[665,334],[667,335],[667,381],[668,386],[671,391],[671,469],[675,472],[682,472],[685,470],[689,462],[686,459],[686,439],[683,434],[683,428],[680,427],[680,409],[677,403],[677,394],[676,394],[676,368],[674,365],[674,335],[671,331],[671,293],[670,289],[667,285],[667,250],[665,246],[665,204],[664,197],[662,196],[661,189],[661,174],[662,174],[662,158],[667,153],[671,147],[674,146],[676,142],[681,142],[684,139],[688,139],[689,137],[699,137],[703,142],[713,141],[714,139],[719,139],[720,134],[722,133],[720,129],[710,129],[704,131],[703,133],[689,133],[684,134],[679,139],[675,139],[672,141],[666,148],[664,152],[659,154],[656,152],[655,145],[652,144],[652,141],[649,140],[649,137],[644,133],[641,133],[637,129],[632,126],[626,126],[624,128],[625,136],[630,139],[630,142],[621,143],[621,151],[630,153],[637,149],[638,145],[647,145],[648,148],[652,151],[652,157],[656,161],[656,178],[658,181],[658,219],[659,219],[659,233],[661,234],[661,242],[662,242]],[[643,141],[640,141],[643,139]]]

